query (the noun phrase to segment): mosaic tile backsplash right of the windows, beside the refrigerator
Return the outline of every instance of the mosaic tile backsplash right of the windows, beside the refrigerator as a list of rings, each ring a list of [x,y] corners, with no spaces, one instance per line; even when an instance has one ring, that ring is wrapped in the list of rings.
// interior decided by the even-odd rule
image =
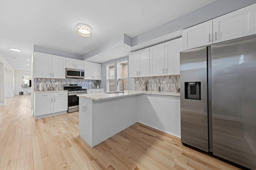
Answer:
[[[142,83],[146,82],[148,91],[170,91],[176,92],[180,88],[180,76],[161,76],[161,77],[138,77],[134,78],[134,89],[142,90]],[[163,83],[166,81],[166,83]],[[159,86],[159,90],[157,89]]]

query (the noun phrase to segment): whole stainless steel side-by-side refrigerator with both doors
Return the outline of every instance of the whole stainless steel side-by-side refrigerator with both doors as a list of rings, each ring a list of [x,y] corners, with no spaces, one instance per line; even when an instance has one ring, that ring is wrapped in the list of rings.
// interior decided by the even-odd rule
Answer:
[[[256,169],[256,35],[180,52],[181,142]]]

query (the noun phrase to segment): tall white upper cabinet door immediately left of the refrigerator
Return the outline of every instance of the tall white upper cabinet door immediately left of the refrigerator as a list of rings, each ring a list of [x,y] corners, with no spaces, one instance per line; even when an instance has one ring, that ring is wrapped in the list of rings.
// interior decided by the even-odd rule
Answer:
[[[180,75],[182,38],[165,43],[165,75]]]

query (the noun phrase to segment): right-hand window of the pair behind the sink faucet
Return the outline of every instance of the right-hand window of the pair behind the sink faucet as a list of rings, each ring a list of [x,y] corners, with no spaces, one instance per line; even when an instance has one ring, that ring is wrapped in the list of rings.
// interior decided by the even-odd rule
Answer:
[[[128,61],[117,62],[117,79],[123,79],[124,90],[128,90]],[[120,84],[119,84],[120,83]],[[117,89],[122,89],[122,81],[119,81]]]

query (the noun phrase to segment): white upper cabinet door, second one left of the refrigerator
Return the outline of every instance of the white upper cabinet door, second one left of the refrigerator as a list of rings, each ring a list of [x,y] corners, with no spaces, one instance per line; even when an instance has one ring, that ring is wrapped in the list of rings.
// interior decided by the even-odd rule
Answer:
[[[161,76],[165,73],[164,43],[150,47],[150,76]]]

